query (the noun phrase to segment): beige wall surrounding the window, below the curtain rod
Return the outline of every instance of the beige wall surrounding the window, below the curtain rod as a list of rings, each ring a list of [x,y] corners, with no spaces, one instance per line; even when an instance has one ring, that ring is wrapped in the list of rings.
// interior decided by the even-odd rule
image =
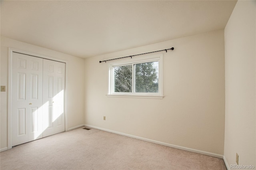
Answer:
[[[100,60],[170,47],[163,53],[164,99],[106,97]],[[223,155],[224,30],[87,58],[85,76],[86,125]]]

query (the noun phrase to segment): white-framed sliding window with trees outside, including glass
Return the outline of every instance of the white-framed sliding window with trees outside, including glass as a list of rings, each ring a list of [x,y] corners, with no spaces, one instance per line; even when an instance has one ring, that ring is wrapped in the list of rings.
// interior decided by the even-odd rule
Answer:
[[[162,98],[162,54],[109,62],[108,96]]]

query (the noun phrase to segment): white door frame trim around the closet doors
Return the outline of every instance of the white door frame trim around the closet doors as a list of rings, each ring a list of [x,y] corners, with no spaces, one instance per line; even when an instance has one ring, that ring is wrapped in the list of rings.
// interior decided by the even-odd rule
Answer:
[[[17,53],[22,53],[25,55],[30,55],[33,57],[39,57],[43,59],[50,59],[53,61],[58,61],[62,63],[66,63],[66,68],[65,68],[65,98],[64,98],[64,111],[65,111],[65,131],[68,131],[68,117],[67,117],[67,112],[66,112],[66,105],[67,105],[67,80],[68,80],[68,75],[67,75],[67,68],[68,68],[68,61],[63,60],[63,59],[58,59],[46,55],[41,55],[37,53],[32,53],[28,51],[23,51],[20,49],[15,49],[12,47],[9,47],[9,69],[8,69],[8,137],[7,137],[7,143],[8,143],[8,149],[12,148],[12,53],[17,52]]]

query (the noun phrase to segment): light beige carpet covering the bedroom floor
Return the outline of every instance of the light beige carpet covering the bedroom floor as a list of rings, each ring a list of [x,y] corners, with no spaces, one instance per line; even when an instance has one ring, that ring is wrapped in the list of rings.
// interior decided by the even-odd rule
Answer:
[[[1,170],[226,170],[223,159],[84,127],[0,152]]]

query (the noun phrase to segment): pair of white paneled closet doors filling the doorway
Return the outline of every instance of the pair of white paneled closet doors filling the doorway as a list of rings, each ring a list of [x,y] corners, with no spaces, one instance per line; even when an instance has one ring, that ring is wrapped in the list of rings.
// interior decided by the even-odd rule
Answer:
[[[11,147],[65,131],[66,63],[10,53]]]

